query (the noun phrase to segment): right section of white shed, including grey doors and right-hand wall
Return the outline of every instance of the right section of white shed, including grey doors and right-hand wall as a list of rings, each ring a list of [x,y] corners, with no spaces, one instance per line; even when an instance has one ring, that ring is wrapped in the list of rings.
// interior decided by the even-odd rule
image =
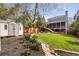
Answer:
[[[9,22],[9,36],[23,35],[23,25],[21,23]]]

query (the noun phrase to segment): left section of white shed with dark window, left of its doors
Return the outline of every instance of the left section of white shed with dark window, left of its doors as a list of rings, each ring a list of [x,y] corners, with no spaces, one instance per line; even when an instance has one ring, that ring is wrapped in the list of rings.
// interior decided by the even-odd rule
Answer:
[[[0,37],[8,36],[8,22],[0,20]]]

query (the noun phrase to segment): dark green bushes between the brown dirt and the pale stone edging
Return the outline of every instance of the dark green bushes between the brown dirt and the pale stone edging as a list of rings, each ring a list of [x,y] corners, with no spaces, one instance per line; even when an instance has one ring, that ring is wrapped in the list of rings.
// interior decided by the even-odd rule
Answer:
[[[25,39],[28,48],[30,48],[31,50],[39,51],[40,43],[36,40],[37,36],[33,35],[31,38],[30,36],[31,36],[30,34],[25,34]]]

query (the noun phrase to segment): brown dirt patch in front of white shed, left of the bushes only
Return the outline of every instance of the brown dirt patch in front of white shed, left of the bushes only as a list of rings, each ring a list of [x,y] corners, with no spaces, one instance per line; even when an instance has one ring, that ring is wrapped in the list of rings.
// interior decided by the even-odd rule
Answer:
[[[2,56],[18,56],[24,50],[19,37],[9,37],[1,39],[1,54]]]

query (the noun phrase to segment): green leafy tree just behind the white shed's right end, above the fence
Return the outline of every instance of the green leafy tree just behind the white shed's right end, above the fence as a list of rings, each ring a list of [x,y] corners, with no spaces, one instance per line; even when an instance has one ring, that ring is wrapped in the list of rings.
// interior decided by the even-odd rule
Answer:
[[[27,9],[22,12],[22,15],[19,16],[18,20],[24,25],[24,27],[32,27],[33,25],[31,14],[29,13],[29,10]]]

